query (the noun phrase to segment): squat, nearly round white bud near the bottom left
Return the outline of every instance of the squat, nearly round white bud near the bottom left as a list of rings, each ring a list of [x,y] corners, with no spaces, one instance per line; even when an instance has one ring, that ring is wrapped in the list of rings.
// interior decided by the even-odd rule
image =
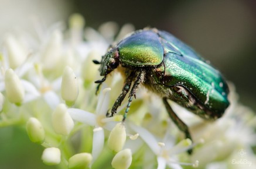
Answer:
[[[52,166],[60,163],[60,149],[56,147],[50,147],[43,151],[42,155],[43,163]]]

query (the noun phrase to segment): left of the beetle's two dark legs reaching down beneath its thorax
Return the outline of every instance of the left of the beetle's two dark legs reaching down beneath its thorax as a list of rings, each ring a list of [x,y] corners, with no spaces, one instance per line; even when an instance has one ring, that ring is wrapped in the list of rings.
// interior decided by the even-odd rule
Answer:
[[[120,96],[118,96],[117,100],[115,100],[115,103],[111,108],[111,114],[107,112],[106,114],[107,117],[112,117],[114,114],[117,113],[117,108],[121,105],[122,101],[124,100],[125,96],[130,90],[133,79],[134,79],[134,72],[131,72],[125,81],[124,87],[122,87],[122,93],[120,94]]]

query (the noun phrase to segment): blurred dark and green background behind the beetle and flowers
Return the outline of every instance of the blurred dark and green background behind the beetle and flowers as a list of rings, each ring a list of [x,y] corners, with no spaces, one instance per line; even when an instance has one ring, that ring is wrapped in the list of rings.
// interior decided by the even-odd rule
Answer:
[[[20,4],[18,4],[20,3]],[[256,1],[84,1],[0,0],[0,43],[7,31],[67,23],[81,13],[86,26],[108,21],[169,31],[209,59],[235,84],[241,103],[256,110]],[[31,143],[25,129],[0,128],[0,168],[54,168],[40,160],[42,146]]]

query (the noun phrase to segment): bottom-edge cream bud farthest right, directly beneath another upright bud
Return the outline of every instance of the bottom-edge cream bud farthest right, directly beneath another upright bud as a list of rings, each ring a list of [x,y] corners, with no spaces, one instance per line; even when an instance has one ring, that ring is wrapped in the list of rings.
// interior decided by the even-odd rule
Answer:
[[[112,167],[115,169],[127,169],[132,163],[131,149],[124,149],[117,154],[112,160]]]

